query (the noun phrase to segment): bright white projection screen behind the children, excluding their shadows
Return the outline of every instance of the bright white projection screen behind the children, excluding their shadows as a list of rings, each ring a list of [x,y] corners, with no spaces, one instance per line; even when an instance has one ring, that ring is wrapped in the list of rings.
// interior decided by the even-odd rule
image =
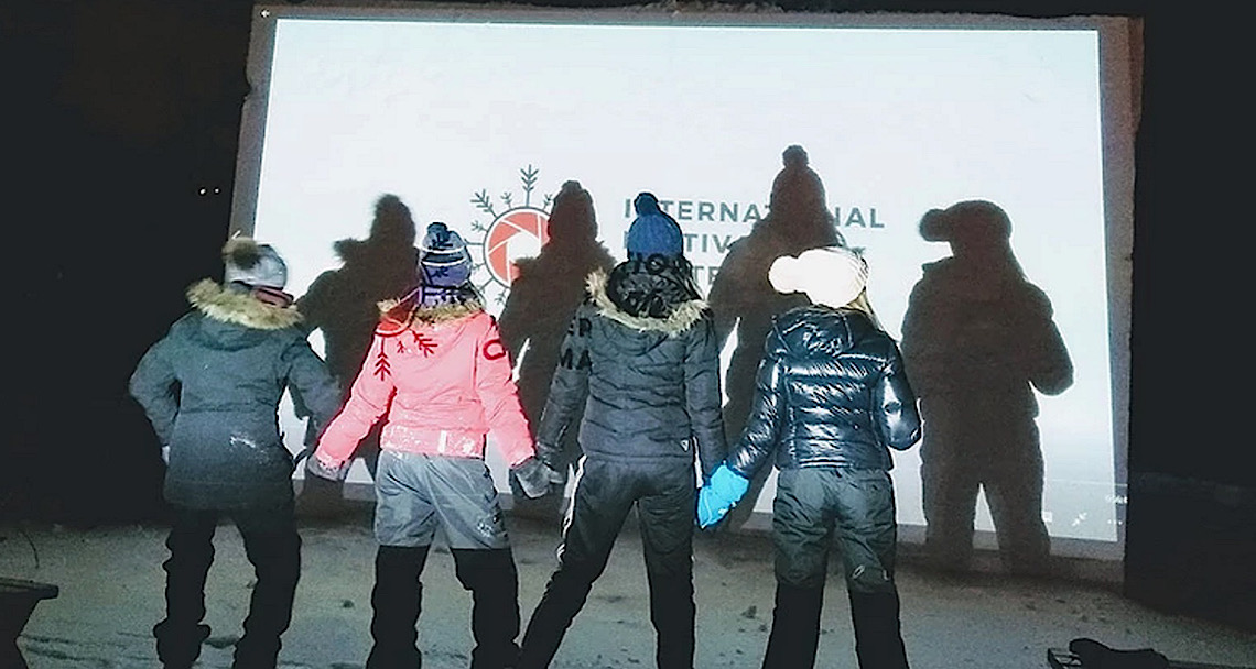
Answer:
[[[443,221],[471,244],[496,313],[511,262],[545,240],[550,198],[578,179],[618,257],[632,198],[656,193],[706,287],[799,144],[898,338],[922,265],[951,252],[922,238],[922,215],[993,202],[1075,368],[1071,388],[1037,397],[1049,532],[1119,543],[1132,176],[1112,166],[1133,157],[1120,26],[870,21],[255,8],[232,227],[280,249],[300,295],[394,193],[421,230]],[[285,422],[296,451],[304,431]],[[919,448],[894,457],[899,521],[923,525]],[[977,526],[991,528],[985,507]]]

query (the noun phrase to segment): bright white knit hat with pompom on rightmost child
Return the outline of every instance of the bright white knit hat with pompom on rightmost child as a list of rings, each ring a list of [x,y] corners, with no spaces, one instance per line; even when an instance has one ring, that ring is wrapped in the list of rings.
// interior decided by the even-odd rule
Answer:
[[[815,304],[839,308],[868,285],[868,264],[850,249],[825,246],[776,259],[767,280],[777,292],[805,292]]]

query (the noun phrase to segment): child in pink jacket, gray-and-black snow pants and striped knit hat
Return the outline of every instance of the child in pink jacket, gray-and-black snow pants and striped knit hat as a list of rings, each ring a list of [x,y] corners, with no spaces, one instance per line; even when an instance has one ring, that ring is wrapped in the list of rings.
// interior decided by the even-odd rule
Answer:
[[[517,575],[484,462],[486,434],[492,433],[529,497],[548,492],[556,474],[534,457],[510,356],[470,282],[462,238],[432,223],[420,251],[420,286],[381,305],[383,316],[352,394],[319,438],[308,469],[343,477],[358,442],[387,414],[376,471],[379,550],[368,669],[420,665],[420,575],[437,528],[474,601],[471,666],[512,666]]]

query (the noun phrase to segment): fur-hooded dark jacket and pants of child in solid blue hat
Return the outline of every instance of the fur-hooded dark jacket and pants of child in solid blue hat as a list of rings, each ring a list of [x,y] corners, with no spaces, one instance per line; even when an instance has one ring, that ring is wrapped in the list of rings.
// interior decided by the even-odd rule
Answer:
[[[722,459],[718,349],[710,311],[687,279],[631,260],[597,271],[568,329],[536,431],[559,457],[580,414],[583,449],[559,566],[524,634],[520,668],[548,666],[636,507],[651,621],[662,669],[693,666],[695,456]]]

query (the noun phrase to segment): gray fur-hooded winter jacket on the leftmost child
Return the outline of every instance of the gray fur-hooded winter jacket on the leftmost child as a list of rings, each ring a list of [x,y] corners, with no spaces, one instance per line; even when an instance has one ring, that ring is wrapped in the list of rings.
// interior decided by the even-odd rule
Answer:
[[[279,399],[291,384],[324,425],[340,408],[340,389],[296,328],[294,308],[210,280],[187,297],[193,310],[131,377],[131,394],[170,447],[166,498],[220,510],[284,503],[293,457],[279,433]]]

